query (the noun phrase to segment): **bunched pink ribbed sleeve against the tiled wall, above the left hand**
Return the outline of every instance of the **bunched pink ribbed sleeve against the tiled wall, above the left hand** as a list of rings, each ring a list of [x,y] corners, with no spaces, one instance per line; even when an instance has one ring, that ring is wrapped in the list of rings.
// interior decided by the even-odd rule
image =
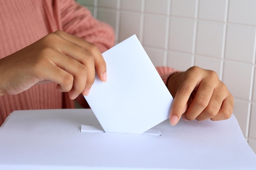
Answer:
[[[115,44],[112,27],[93,18],[90,11],[74,0],[59,0],[58,16],[63,31],[96,44],[103,53]]]

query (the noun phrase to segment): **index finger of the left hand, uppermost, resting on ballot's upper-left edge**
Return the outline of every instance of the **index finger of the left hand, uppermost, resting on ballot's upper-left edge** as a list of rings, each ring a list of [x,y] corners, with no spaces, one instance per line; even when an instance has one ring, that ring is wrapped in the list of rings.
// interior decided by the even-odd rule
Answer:
[[[61,37],[65,38],[66,40],[81,46],[86,51],[89,51],[92,54],[92,56],[94,57],[95,69],[96,69],[97,75],[99,76],[99,79],[103,82],[107,81],[106,62],[105,62],[101,52],[99,51],[98,47],[95,44],[92,44],[92,43],[85,41],[82,38],[76,37],[74,35],[67,34],[63,31],[56,31],[55,33],[60,35]],[[83,63],[83,61],[81,61],[81,62]]]

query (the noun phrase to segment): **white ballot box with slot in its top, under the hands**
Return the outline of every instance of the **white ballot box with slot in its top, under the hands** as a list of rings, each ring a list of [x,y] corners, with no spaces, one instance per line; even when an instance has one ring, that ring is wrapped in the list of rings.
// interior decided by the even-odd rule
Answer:
[[[255,170],[236,117],[169,120],[159,135],[81,132],[90,109],[14,111],[0,127],[0,170]],[[132,125],[131,125],[132,126]]]

